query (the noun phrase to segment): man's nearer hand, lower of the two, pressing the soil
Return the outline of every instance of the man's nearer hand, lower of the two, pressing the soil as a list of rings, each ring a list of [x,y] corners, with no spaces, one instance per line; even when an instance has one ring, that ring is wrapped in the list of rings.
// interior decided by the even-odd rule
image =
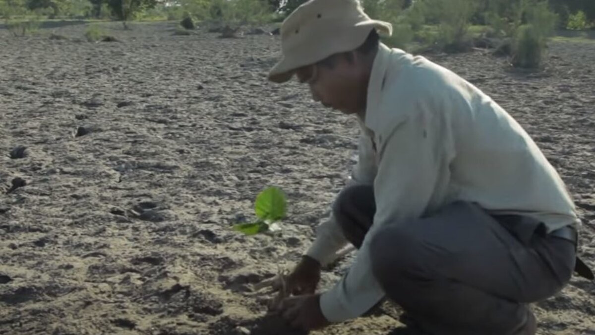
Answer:
[[[274,312],[292,327],[317,330],[330,325],[320,309],[320,294],[289,297]]]

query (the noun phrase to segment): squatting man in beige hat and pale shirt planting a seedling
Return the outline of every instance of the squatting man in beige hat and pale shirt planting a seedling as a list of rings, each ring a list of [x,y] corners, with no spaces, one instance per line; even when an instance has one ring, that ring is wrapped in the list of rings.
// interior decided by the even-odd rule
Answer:
[[[535,334],[528,303],[575,268],[580,221],[563,181],[490,97],[377,32],[392,26],[356,0],[308,1],[281,28],[269,79],[297,76],[362,134],[352,180],[276,311],[317,329],[390,299],[424,334]],[[315,294],[321,266],[347,243],[359,249],[349,271]]]

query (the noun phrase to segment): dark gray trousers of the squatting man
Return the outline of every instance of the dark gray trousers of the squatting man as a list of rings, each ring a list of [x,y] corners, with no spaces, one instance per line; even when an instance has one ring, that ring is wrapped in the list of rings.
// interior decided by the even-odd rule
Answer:
[[[369,186],[346,188],[334,208],[345,237],[358,248],[374,213]],[[396,222],[371,240],[374,275],[387,299],[430,334],[533,335],[528,303],[562,290],[574,272],[576,249],[537,232],[522,237],[507,225],[464,202]]]

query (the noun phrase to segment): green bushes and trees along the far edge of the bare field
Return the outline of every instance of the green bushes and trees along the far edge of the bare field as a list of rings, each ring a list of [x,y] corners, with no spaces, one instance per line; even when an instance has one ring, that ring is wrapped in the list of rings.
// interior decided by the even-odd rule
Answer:
[[[279,23],[305,0],[0,0],[0,17],[14,35],[34,33],[40,20],[186,19],[195,23]],[[361,0],[372,18],[389,21],[384,38],[403,49],[467,51],[489,45],[518,67],[540,67],[556,30],[595,29],[593,0]],[[192,24],[190,24],[192,23]],[[198,24],[201,25],[201,24]]]

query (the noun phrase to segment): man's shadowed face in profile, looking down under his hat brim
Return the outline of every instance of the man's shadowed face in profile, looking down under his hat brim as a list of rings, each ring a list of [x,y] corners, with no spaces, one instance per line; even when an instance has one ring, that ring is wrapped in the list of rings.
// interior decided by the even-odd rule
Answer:
[[[367,89],[362,83],[358,61],[338,55],[332,66],[314,64],[297,70],[297,79],[306,83],[312,98],[325,107],[345,114],[361,113],[365,109]]]

